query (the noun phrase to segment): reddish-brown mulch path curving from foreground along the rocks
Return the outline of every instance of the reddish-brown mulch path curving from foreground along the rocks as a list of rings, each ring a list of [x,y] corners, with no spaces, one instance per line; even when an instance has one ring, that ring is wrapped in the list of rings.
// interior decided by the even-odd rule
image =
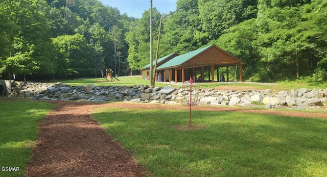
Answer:
[[[131,153],[108,135],[90,114],[100,107],[184,109],[181,105],[52,102],[57,107],[39,123],[38,140],[26,176],[152,176]],[[326,113],[196,106],[193,110],[238,111],[295,117],[327,118]],[[109,115],[108,115],[109,116]]]

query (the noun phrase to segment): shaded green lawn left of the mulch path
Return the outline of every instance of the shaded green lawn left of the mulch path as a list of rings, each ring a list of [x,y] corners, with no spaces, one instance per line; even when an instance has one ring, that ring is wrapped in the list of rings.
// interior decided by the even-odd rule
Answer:
[[[23,176],[37,140],[38,121],[54,105],[27,99],[0,98],[0,167],[19,167],[19,171],[0,171],[0,176]]]

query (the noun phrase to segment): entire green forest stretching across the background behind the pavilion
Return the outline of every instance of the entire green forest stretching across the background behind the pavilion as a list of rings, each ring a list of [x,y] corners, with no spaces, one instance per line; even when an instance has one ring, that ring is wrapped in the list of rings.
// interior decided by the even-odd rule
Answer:
[[[162,15],[159,57],[215,43],[246,62],[245,80],[327,81],[326,0],[189,2],[178,0],[182,8],[169,16],[153,9],[154,54]],[[135,19],[96,0],[4,0],[0,73],[22,79],[100,77],[108,67],[139,73],[149,63],[149,14]]]

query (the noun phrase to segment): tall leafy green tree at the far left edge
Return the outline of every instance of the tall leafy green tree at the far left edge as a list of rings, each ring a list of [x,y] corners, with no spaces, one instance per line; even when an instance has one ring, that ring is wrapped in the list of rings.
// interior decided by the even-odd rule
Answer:
[[[52,73],[54,70],[50,56],[50,27],[44,23],[46,18],[39,9],[47,6],[44,1],[11,1],[11,19],[16,28],[10,38],[10,49],[2,60],[2,71],[33,74]],[[7,38],[8,39],[8,38]]]

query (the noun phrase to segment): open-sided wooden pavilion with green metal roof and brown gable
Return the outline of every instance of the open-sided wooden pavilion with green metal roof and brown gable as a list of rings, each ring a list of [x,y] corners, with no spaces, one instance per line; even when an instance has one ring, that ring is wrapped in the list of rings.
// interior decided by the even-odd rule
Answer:
[[[244,64],[243,61],[212,44],[183,55],[173,53],[158,59],[154,77],[156,82],[184,83],[190,79],[190,76],[195,82],[228,82],[229,67],[235,67],[239,70],[239,81],[242,82]],[[217,70],[216,80],[215,70]],[[143,79],[149,79],[149,71],[150,64],[141,69]],[[208,73],[207,80],[204,78],[205,72]],[[200,77],[196,78],[197,75]]]

